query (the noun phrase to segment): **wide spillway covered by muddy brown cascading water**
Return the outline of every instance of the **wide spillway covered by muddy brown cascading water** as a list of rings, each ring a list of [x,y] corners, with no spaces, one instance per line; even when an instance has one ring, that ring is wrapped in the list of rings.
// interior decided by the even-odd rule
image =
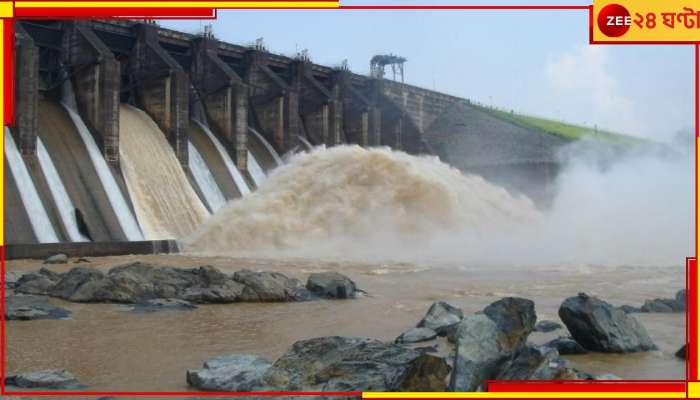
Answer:
[[[119,112],[122,172],[137,218],[149,240],[192,233],[209,215],[158,125],[122,104]]]

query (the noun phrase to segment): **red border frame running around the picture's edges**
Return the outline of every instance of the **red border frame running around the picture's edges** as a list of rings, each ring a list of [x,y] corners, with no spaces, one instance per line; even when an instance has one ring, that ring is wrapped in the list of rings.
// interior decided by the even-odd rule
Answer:
[[[78,0],[90,1],[90,0]],[[168,0],[156,0],[170,2]],[[294,1],[294,0],[281,0]],[[307,0],[321,1],[321,0]],[[274,7],[265,9],[293,9],[294,7]],[[260,9],[258,7],[247,7],[243,9]],[[329,9],[324,7],[311,7],[310,9]],[[343,10],[589,10],[589,44],[672,44],[672,45],[693,45],[695,48],[695,179],[698,176],[698,154],[697,138],[700,135],[700,40],[697,42],[609,42],[593,41],[593,5],[340,5],[338,9]],[[36,11],[41,11],[42,15],[36,15]],[[146,15],[144,15],[146,14]],[[216,18],[215,8],[19,8],[15,9],[15,18],[21,19],[96,19],[109,17],[111,19],[213,19]],[[13,18],[3,19],[5,28],[4,48],[4,124],[13,126],[15,122],[15,41],[14,41],[14,20]],[[4,190],[4,188],[3,188]],[[696,187],[697,192],[697,187]],[[696,210],[696,245],[695,254],[698,254],[697,244],[697,210],[698,198],[695,195]],[[4,227],[3,227],[4,229]],[[0,246],[0,307],[3,310],[0,316],[0,394],[15,396],[115,396],[115,397],[216,397],[216,396],[361,396],[362,392],[110,392],[110,391],[22,391],[8,392],[5,390],[5,247]],[[686,380],[625,380],[625,381],[489,381],[487,388],[492,392],[682,392],[686,391],[686,383],[696,381],[698,374],[698,343],[690,338],[697,338],[698,335],[698,271],[697,259],[689,257],[686,259]],[[686,394],[687,397],[687,394]],[[391,399],[388,395],[383,399]]]

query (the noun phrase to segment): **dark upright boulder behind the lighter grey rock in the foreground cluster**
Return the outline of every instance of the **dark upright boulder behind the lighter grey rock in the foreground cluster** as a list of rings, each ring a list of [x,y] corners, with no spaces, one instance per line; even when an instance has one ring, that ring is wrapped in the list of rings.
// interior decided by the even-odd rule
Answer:
[[[510,351],[517,351],[525,345],[537,321],[535,303],[519,297],[506,297],[493,302],[484,308],[484,314],[496,322],[506,335]]]

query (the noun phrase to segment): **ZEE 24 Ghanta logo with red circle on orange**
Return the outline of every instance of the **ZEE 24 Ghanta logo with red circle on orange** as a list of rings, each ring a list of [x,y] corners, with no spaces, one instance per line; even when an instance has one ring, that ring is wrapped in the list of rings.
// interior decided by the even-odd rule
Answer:
[[[697,31],[700,40],[700,10],[696,11],[691,7],[681,7],[676,11],[640,11],[632,14],[620,4],[608,4],[598,13],[597,24],[604,35],[612,38],[621,37],[634,27],[639,30],[691,29]]]

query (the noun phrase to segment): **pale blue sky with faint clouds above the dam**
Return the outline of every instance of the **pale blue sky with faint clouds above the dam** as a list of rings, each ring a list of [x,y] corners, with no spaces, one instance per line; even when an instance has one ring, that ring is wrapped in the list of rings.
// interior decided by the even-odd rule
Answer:
[[[347,60],[359,74],[393,53],[416,86],[661,142],[692,135],[692,46],[589,45],[587,10],[219,10],[159,23],[212,24],[220,40],[262,37],[271,52],[308,49],[314,63]]]

